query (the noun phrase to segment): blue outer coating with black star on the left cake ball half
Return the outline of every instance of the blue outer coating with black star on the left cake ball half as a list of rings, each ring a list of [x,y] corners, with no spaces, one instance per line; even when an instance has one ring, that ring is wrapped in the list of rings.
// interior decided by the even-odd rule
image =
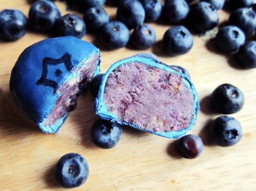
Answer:
[[[57,132],[68,113],[50,128],[43,124],[60,96],[56,90],[77,76],[79,73],[72,74],[72,71],[84,61],[86,65],[86,59],[90,60],[95,54],[100,58],[93,44],[71,36],[42,40],[26,48],[12,69],[10,79],[10,90],[18,109],[44,132]],[[100,59],[93,76],[100,72],[99,63]]]

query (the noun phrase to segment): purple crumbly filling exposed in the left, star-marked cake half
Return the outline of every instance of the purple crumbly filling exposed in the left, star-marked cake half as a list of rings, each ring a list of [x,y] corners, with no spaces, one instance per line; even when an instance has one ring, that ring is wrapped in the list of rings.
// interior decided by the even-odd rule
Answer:
[[[47,119],[45,119],[45,126],[51,126],[67,112],[70,112],[76,108],[77,97],[86,87],[87,83],[91,81],[93,73],[95,73],[97,67],[98,59],[99,57],[97,54],[93,55],[85,66],[84,63],[86,60],[84,60],[83,63],[81,63],[80,66],[72,72],[77,73],[79,71],[79,74],[66,81],[57,90],[57,93],[60,93],[60,96],[58,97],[55,107]]]

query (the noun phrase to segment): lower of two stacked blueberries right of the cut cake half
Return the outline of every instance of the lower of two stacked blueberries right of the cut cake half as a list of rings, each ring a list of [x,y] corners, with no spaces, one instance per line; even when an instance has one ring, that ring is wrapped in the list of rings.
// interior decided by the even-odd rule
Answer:
[[[242,137],[241,124],[230,116],[220,116],[213,121],[211,138],[219,146],[232,146]]]

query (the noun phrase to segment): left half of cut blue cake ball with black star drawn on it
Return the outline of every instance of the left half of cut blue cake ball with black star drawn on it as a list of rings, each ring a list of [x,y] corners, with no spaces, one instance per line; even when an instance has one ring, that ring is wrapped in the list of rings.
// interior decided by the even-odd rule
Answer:
[[[46,39],[26,48],[10,80],[18,109],[42,131],[56,133],[86,84],[99,74],[99,63],[98,49],[76,37]]]

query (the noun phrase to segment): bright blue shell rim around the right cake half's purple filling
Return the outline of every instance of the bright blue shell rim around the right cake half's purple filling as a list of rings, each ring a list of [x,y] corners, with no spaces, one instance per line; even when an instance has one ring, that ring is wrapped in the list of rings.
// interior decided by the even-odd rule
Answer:
[[[178,74],[179,76],[182,77],[183,82],[186,84],[187,87],[189,87],[191,89],[191,93],[194,95],[194,107],[193,107],[192,119],[191,119],[190,124],[187,126],[187,128],[185,128],[183,130],[180,130],[180,131],[170,131],[170,132],[154,132],[154,131],[144,130],[136,124],[127,123],[125,121],[122,121],[122,120],[118,119],[117,116],[115,116],[111,112],[107,111],[107,107],[106,107],[104,99],[103,99],[106,80],[109,77],[109,74],[115,68],[117,68],[117,67],[119,67],[120,65],[123,65],[123,64],[129,64],[129,62],[130,63],[139,62],[139,63],[143,63],[145,65],[154,66],[154,67],[166,70],[167,72]],[[169,65],[166,65],[165,63],[162,63],[158,60],[154,60],[152,58],[146,58],[144,56],[131,56],[130,58],[125,58],[123,60],[119,60],[119,61],[113,63],[113,65],[107,70],[107,72],[103,76],[102,83],[100,84],[99,93],[98,93],[98,96],[97,96],[96,101],[95,101],[95,112],[99,117],[101,117],[103,119],[106,119],[106,120],[110,120],[110,121],[115,122],[115,123],[119,123],[121,125],[129,125],[129,126],[132,126],[135,129],[151,132],[154,135],[158,135],[158,136],[162,136],[162,137],[166,137],[166,138],[178,138],[180,136],[185,135],[185,133],[187,131],[189,131],[194,126],[194,124],[196,123],[196,119],[197,119],[199,109],[200,109],[200,107],[199,107],[199,100],[198,100],[197,91],[194,88],[193,83],[187,78],[186,75],[178,72],[177,70],[171,68]]]

